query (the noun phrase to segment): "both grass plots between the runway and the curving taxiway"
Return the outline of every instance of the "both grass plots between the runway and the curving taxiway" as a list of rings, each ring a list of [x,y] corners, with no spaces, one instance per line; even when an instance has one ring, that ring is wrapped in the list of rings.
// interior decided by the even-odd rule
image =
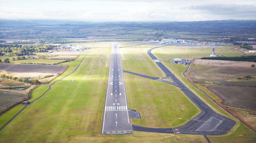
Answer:
[[[165,77],[166,75],[147,54],[157,45],[139,45],[121,48],[124,70],[138,74]],[[199,109],[180,90],[170,84],[124,74],[129,108],[138,111],[142,119],[132,123],[150,127],[180,126],[199,114]],[[172,103],[172,104],[170,104]]]

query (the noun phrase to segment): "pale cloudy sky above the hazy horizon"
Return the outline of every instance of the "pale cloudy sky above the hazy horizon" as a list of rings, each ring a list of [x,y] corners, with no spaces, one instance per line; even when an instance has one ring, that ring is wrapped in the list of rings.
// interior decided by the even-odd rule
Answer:
[[[256,0],[0,0],[0,19],[256,20]]]

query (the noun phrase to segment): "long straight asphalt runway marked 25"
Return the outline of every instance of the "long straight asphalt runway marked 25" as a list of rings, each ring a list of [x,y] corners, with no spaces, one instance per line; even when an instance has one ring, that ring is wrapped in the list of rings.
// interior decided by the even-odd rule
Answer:
[[[113,43],[109,65],[102,134],[131,134],[119,44]]]

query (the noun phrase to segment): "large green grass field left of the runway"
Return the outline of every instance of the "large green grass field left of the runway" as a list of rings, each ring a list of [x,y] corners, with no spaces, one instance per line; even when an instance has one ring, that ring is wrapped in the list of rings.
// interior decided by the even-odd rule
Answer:
[[[68,139],[63,138],[68,137],[67,135],[100,134],[108,75],[108,66],[105,66],[105,62],[109,62],[109,56],[86,57],[79,69],[65,78],[65,80],[74,78],[76,81],[59,81],[54,84],[45,96],[26,108],[0,132],[0,140],[63,142]],[[79,58],[81,59],[82,57]],[[71,64],[65,74],[59,78],[74,70],[79,60],[73,62],[75,64]],[[32,96],[34,97],[35,93],[37,93],[35,97],[39,96],[45,91],[45,87],[47,88],[47,86],[36,88]],[[24,128],[26,130],[23,130]],[[45,138],[46,136],[48,137]]]

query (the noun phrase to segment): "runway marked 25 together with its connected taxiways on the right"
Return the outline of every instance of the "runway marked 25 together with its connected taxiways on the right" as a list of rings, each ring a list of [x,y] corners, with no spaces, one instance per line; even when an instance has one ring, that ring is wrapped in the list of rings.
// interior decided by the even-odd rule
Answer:
[[[114,44],[112,47],[111,62],[109,68],[108,88],[106,93],[102,134],[131,134],[132,131],[200,135],[227,134],[236,122],[220,114],[217,114],[210,107],[208,107],[207,104],[199,99],[193,92],[191,92],[190,89],[188,89],[151,53],[151,51],[155,48],[151,48],[147,51],[147,53],[151,57],[151,59],[156,62],[156,64],[165,72],[166,77],[171,78],[171,80],[173,81],[165,83],[179,87],[181,92],[185,93],[185,95],[187,95],[188,98],[190,98],[191,101],[193,101],[194,104],[200,108],[201,113],[191,119],[185,125],[176,128],[147,128],[137,125],[131,125],[128,115],[119,47],[117,44]],[[156,77],[149,77],[129,71],[124,72],[142,76],[145,78],[150,78],[152,80],[158,80]],[[158,81],[163,82],[163,80]],[[122,107],[120,108],[120,106]]]

